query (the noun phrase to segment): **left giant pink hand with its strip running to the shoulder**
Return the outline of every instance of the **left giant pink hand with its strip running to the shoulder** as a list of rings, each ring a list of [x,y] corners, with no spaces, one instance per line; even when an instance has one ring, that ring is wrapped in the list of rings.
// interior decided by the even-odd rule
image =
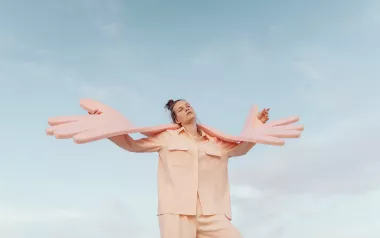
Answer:
[[[113,136],[140,132],[145,135],[159,133],[168,128],[177,128],[175,124],[155,127],[136,127],[115,109],[92,99],[80,101],[82,108],[99,115],[63,116],[49,119],[48,135],[57,139],[73,138],[78,144],[106,139]],[[146,132],[146,133],[144,133]]]

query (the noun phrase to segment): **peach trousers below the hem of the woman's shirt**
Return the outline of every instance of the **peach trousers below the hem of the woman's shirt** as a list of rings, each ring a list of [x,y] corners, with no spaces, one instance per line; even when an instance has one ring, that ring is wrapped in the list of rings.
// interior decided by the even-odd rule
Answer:
[[[161,238],[242,238],[225,215],[202,215],[197,203],[197,215],[163,214],[158,216]]]

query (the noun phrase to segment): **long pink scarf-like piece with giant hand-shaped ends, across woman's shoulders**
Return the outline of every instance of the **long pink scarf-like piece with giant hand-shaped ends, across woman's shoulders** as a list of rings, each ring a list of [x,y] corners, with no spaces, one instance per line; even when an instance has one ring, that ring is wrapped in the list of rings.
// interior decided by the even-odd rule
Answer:
[[[100,102],[83,99],[82,108],[92,113],[101,111],[100,115],[64,116],[49,119],[48,135],[55,135],[59,139],[73,138],[76,143],[87,143],[113,136],[142,133],[146,136],[157,134],[167,129],[176,129],[176,124],[159,125],[153,127],[136,127],[127,118]],[[257,119],[257,106],[252,107],[242,133],[239,136],[227,135],[211,127],[198,124],[206,133],[229,142],[248,141],[269,145],[283,145],[281,138],[297,138],[303,126],[290,125],[299,120],[298,117],[273,121],[263,124]]]

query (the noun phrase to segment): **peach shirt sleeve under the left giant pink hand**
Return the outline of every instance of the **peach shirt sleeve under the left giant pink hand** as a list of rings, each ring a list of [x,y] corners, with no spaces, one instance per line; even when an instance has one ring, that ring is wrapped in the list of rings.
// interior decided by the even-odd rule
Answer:
[[[158,152],[166,144],[167,132],[160,132],[157,135],[141,138],[138,140],[133,139],[129,135],[120,135],[109,138],[113,143],[119,147],[136,153],[144,152]]]

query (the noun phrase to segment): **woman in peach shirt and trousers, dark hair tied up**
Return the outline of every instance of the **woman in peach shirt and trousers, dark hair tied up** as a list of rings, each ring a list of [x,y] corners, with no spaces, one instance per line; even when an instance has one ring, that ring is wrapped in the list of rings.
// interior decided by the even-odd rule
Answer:
[[[185,100],[165,107],[179,129],[134,140],[129,135],[109,138],[130,152],[158,152],[158,219],[162,238],[238,238],[231,224],[227,164],[245,155],[252,142],[228,143],[197,127],[196,113]],[[269,109],[258,118],[265,123]],[[96,111],[100,114],[100,111]]]

